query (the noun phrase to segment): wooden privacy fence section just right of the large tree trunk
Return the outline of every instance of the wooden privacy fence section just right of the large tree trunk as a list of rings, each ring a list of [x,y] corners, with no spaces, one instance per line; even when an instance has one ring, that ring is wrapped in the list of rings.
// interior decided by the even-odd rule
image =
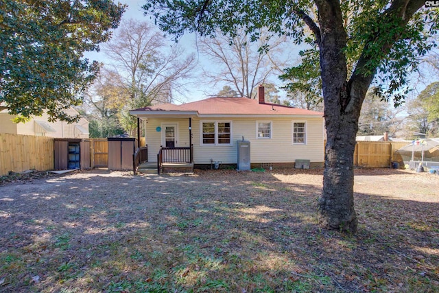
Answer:
[[[358,167],[390,167],[396,161],[403,163],[396,155],[396,150],[407,145],[407,142],[395,141],[357,141],[354,152],[354,165]]]

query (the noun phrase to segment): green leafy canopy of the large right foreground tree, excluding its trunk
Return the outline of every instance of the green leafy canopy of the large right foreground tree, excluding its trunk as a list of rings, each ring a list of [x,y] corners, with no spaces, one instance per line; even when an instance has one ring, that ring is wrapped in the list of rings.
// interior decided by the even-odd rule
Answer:
[[[314,3],[315,2],[315,3]],[[407,84],[419,57],[434,43],[428,37],[436,34],[438,10],[423,8],[425,1],[166,1],[152,0],[143,6],[153,14],[161,30],[176,40],[185,32],[202,36],[223,34],[236,36],[245,27],[251,40],[261,31],[287,35],[296,44],[307,43],[316,48],[322,38],[318,25],[320,8],[340,10],[342,53],[351,75],[361,70],[375,76],[377,89],[385,97],[399,102],[398,91]],[[403,18],[401,18],[401,16]],[[313,50],[304,50],[309,62],[315,61]],[[367,61],[366,61],[367,59]],[[359,63],[359,61],[361,61]],[[308,62],[308,60],[307,60]],[[306,69],[305,72],[311,72]],[[396,93],[396,95],[394,94]],[[384,96],[383,96],[384,97]]]

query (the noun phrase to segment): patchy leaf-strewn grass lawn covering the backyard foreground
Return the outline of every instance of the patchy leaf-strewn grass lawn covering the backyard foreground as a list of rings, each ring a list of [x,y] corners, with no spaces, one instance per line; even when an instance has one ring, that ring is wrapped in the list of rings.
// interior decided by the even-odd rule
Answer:
[[[439,292],[439,176],[356,172],[356,235],[319,228],[321,169],[7,183],[0,291]]]

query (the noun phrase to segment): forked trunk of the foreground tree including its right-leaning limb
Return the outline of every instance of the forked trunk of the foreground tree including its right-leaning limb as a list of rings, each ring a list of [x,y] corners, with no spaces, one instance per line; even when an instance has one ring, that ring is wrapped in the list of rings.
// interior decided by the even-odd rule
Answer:
[[[425,4],[425,1],[395,0],[383,12],[381,20],[390,27],[401,29],[413,14]],[[316,0],[320,27],[309,25],[320,49],[320,69],[324,100],[324,117],[327,128],[327,145],[325,151],[323,193],[318,202],[319,220],[326,228],[344,231],[357,230],[357,215],[354,210],[353,154],[355,136],[358,130],[358,118],[364,97],[372,82],[375,67],[370,67],[374,50],[370,46],[379,45],[381,52],[388,53],[396,40],[401,37],[399,30],[378,30],[377,34],[366,42],[363,53],[359,56],[353,75],[347,78],[346,32],[342,20],[339,0]],[[299,12],[300,14],[300,12]],[[396,21],[395,21],[396,20]],[[389,26],[383,26],[389,27]],[[385,42],[375,43],[382,38]],[[376,61],[376,60],[375,60]]]

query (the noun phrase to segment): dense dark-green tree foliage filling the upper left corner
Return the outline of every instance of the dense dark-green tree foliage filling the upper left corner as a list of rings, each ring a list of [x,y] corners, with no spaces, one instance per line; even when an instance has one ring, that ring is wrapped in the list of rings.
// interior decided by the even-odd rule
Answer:
[[[99,51],[119,25],[125,6],[112,0],[3,0],[0,2],[0,102],[29,117],[74,121],[64,109],[81,104],[99,64]]]

